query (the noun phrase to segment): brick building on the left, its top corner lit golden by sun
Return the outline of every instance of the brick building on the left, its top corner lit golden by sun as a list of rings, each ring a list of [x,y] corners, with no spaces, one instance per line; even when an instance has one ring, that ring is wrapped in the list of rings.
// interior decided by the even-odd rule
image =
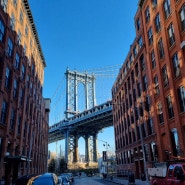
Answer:
[[[0,1],[0,180],[47,171],[50,99],[27,0]]]

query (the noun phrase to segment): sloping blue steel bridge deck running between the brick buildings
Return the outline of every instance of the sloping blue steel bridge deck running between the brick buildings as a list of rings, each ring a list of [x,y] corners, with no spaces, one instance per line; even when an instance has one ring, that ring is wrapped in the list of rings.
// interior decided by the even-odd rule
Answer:
[[[66,130],[70,131],[70,135],[84,136],[85,134],[99,132],[112,125],[112,101],[107,101],[50,126],[49,143],[65,139]]]

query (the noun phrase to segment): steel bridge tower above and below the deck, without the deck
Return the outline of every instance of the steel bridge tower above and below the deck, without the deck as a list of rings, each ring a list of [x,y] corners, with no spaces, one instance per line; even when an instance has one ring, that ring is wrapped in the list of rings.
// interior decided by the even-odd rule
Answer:
[[[78,114],[78,86],[80,83],[84,85],[85,91],[85,109],[88,110],[93,108],[96,104],[95,98],[95,77],[87,73],[79,73],[76,71],[66,70],[66,120],[75,114]],[[68,162],[69,158],[72,158],[73,162],[78,161],[78,139],[84,136],[84,134],[76,133],[75,135],[70,134],[70,130],[65,130],[65,158]],[[97,161],[97,140],[94,139],[93,143],[89,142],[90,135],[84,136],[85,139],[85,156],[86,161],[90,160],[90,150],[93,152],[93,161]],[[95,138],[95,136],[94,136]]]

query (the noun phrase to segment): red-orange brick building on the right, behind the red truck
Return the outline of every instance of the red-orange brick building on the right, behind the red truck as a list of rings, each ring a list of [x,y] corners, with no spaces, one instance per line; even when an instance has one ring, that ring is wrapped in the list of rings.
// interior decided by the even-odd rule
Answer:
[[[185,157],[185,0],[140,0],[112,88],[118,173]]]

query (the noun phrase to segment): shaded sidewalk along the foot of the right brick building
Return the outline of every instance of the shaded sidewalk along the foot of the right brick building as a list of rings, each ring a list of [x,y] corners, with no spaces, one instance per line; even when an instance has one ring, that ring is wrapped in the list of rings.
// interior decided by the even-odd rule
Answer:
[[[120,185],[128,185],[128,179],[125,179],[125,178],[118,178],[118,177],[113,177],[113,179],[111,180],[109,177],[106,178],[106,179],[103,179],[103,180],[106,180],[106,181],[110,181],[110,182],[114,182],[116,184],[120,184]],[[149,185],[150,183],[146,181],[142,181],[140,179],[135,179],[135,183],[130,183],[130,184],[134,184],[134,185]]]

